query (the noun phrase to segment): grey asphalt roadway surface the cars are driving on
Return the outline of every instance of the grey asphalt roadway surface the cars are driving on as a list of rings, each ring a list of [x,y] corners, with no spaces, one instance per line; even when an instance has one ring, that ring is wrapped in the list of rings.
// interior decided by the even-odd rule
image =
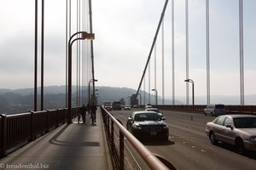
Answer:
[[[138,110],[135,110],[138,111]],[[132,111],[111,111],[126,127]],[[256,152],[241,156],[233,146],[212,145],[205,133],[214,116],[198,113],[162,111],[169,126],[169,141],[143,141],[148,150],[172,162],[177,169],[243,170],[256,169]]]

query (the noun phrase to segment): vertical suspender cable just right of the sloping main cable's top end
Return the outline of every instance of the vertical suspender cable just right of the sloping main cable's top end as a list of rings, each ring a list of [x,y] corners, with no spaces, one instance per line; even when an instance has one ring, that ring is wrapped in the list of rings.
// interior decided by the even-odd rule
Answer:
[[[174,0],[172,0],[172,105],[175,105],[175,67],[174,67]]]

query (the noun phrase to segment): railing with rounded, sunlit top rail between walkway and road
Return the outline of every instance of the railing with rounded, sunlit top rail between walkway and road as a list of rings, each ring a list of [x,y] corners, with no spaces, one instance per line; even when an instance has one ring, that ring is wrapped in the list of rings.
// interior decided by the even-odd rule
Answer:
[[[125,151],[125,141],[129,142],[129,144],[132,146],[132,149],[135,149],[139,156],[143,158],[143,161],[145,161],[148,168],[155,170],[176,169],[172,166],[172,163],[166,161],[166,159],[162,156],[151,153],[137,138],[135,138],[129,131],[127,131],[125,127],[123,127],[123,125],[103,107],[101,107],[101,111],[104,127],[108,137],[108,145],[111,156],[113,156],[113,164],[115,165],[115,169],[137,169],[136,167],[132,167],[131,162],[125,163],[125,160],[128,160],[129,157],[132,157],[129,156],[128,153],[130,150],[126,149],[127,152]],[[128,166],[130,166],[130,168]]]

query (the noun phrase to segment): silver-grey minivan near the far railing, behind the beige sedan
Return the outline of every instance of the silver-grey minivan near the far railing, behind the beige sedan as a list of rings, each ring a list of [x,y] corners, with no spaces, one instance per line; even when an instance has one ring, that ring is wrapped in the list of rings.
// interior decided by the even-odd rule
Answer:
[[[223,104],[212,104],[212,105],[207,105],[207,107],[204,109],[204,114],[207,116],[208,114],[212,116],[221,116],[226,113],[225,105]]]

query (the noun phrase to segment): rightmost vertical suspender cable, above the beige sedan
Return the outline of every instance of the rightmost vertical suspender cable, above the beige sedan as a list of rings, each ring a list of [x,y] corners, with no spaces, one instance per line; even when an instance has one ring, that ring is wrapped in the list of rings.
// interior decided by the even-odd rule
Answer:
[[[239,31],[240,31],[240,98],[244,105],[244,68],[243,68],[243,3],[239,1]]]

